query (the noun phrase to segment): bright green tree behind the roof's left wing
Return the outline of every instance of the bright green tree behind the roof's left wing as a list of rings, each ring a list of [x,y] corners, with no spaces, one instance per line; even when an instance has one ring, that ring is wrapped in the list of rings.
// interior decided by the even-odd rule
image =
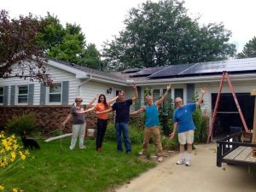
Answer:
[[[86,44],[80,26],[67,23],[64,27],[57,16],[49,13],[41,20],[44,20],[47,26],[44,26],[40,32],[38,41],[45,47],[48,57],[102,69],[100,53],[96,45]]]

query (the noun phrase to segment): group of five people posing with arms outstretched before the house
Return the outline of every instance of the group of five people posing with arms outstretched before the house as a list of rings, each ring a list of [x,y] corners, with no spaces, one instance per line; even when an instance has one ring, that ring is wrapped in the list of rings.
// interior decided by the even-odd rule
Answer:
[[[134,115],[137,113],[145,113],[145,128],[143,133],[143,150],[139,154],[145,154],[148,150],[148,142],[151,135],[154,136],[155,146],[156,146],[156,154],[158,156],[158,161],[163,161],[164,151],[161,145],[160,140],[160,126],[159,126],[159,114],[158,108],[162,102],[166,99],[167,95],[171,91],[171,84],[167,85],[166,93],[160,98],[160,100],[153,102],[153,98],[151,96],[145,97],[146,105],[142,108],[138,109],[130,113],[130,107],[133,102],[135,102],[138,98],[137,93],[137,85],[133,84],[133,89],[135,96],[131,99],[125,100],[124,91],[119,91],[119,95],[113,97],[110,101],[106,100],[106,96],[103,94],[100,96],[95,96],[93,100],[87,105],[82,105],[83,102],[80,96],[75,98],[75,103],[73,104],[70,113],[67,115],[67,118],[61,124],[62,126],[67,124],[69,119],[73,118],[73,136],[70,144],[70,149],[75,147],[77,139],[79,137],[79,148],[84,147],[84,134],[85,134],[85,113],[90,111],[96,111],[97,116],[97,124],[96,124],[96,150],[102,150],[102,142],[105,135],[105,131],[108,126],[108,113],[111,111],[116,111],[115,116],[115,124],[114,128],[116,131],[116,139],[117,139],[117,151],[123,152],[123,144],[122,144],[122,135],[125,143],[125,153],[131,154],[131,140],[129,137],[128,130],[128,122],[130,119],[130,115]],[[191,165],[191,150],[192,143],[194,142],[194,130],[195,125],[192,119],[192,113],[195,111],[195,108],[201,105],[203,100],[203,96],[206,93],[206,89],[201,89],[201,96],[199,100],[195,103],[189,103],[183,105],[183,99],[181,97],[177,97],[175,99],[175,103],[177,105],[177,109],[174,111],[173,115],[173,131],[170,133],[169,137],[172,139],[175,136],[177,131],[178,142],[180,144],[180,160],[177,161],[177,165],[185,164],[186,166]],[[91,104],[96,101],[98,98],[97,104],[91,107]],[[118,102],[115,102],[118,99]],[[114,102],[114,103],[113,103]],[[111,106],[111,104],[113,105]],[[188,144],[188,156],[185,160],[184,155],[184,145]]]

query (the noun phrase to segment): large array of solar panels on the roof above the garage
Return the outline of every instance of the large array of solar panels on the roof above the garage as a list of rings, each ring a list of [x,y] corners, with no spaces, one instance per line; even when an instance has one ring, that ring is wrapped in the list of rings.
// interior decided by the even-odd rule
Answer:
[[[256,72],[256,58],[172,65],[149,75],[148,78],[218,74],[224,71],[229,73]]]

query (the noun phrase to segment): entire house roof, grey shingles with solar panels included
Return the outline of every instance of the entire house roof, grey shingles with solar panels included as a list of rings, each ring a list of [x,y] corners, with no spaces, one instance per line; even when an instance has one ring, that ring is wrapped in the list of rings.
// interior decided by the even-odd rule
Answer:
[[[256,79],[256,57],[228,61],[211,61],[191,64],[180,64],[162,67],[149,67],[142,69],[128,69],[124,72],[108,73],[89,67],[80,66],[67,61],[49,59],[58,63],[58,67],[65,65],[64,70],[76,73],[77,78],[83,79],[92,76],[96,81],[108,81],[113,84],[166,84],[166,82],[209,82],[219,80],[224,71],[236,74],[238,79]],[[55,64],[56,65],[56,64]],[[72,68],[73,70],[71,70]],[[79,74],[78,74],[79,73]],[[240,77],[238,74],[243,74]],[[238,75],[238,76],[237,76]]]

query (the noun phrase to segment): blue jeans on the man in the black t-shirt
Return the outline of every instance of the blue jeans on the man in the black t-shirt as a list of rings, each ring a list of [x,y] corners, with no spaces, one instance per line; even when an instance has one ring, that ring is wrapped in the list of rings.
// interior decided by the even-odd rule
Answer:
[[[131,140],[129,137],[128,123],[116,122],[114,125],[114,128],[116,131],[117,150],[119,152],[123,151],[123,144],[122,144],[122,132],[123,132],[125,150],[126,150],[126,153],[130,153],[131,152]]]

